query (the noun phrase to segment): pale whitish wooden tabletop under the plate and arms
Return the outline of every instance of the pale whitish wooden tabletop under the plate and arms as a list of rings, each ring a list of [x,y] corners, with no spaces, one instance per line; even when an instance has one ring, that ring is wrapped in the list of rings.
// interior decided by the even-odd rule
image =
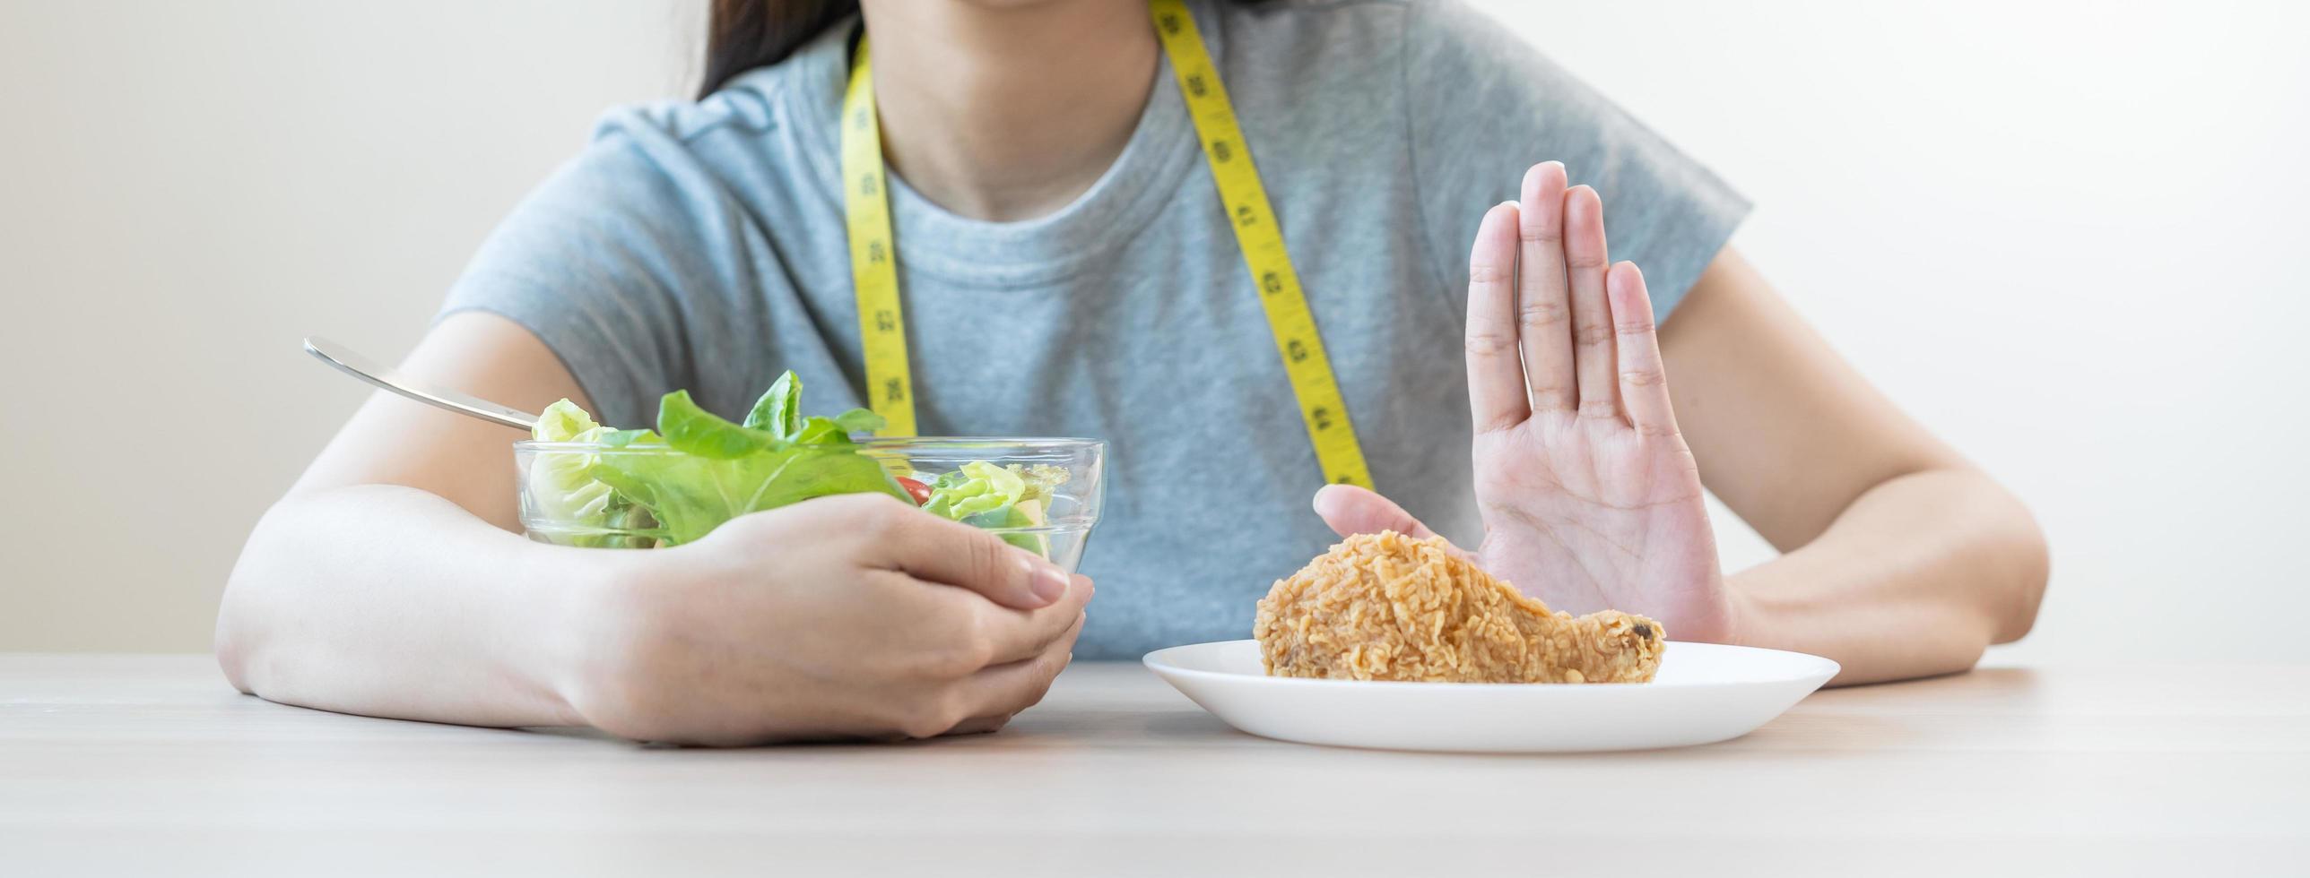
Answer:
[[[2310,873],[2310,665],[1989,668],[1716,746],[1319,749],[1079,665],[998,735],[693,751],[0,656],[0,876]]]

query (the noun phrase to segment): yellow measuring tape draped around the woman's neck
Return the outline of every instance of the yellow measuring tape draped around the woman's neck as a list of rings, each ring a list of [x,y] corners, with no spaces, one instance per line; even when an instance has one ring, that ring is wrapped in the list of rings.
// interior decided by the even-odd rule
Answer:
[[[1243,266],[1252,273],[1259,305],[1275,335],[1275,356],[1291,377],[1307,441],[1324,467],[1324,481],[1372,488],[1363,462],[1356,425],[1347,416],[1340,379],[1324,354],[1324,335],[1307,310],[1298,270],[1284,250],[1268,189],[1252,166],[1252,150],[1227,99],[1220,69],[1204,49],[1204,35],[1183,0],[1153,0],[1148,12],[1155,35],[1171,55],[1171,72],[1204,141],[1204,159],[1220,187],[1220,203],[1236,229]],[[912,377],[906,363],[906,319],[899,310],[899,273],[892,259],[889,194],[882,185],[882,132],[873,109],[873,76],[866,62],[866,39],[859,39],[850,65],[850,90],[843,95],[843,208],[850,224],[850,275],[857,282],[859,337],[866,349],[869,407],[889,421],[885,437],[915,434]]]

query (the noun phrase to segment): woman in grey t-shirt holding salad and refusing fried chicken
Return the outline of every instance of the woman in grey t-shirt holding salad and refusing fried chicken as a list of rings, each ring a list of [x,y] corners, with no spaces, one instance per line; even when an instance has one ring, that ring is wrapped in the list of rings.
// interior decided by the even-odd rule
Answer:
[[[1314,490],[1344,469],[1215,187],[1231,150],[1190,116],[1210,83],[1176,76],[1143,0],[725,0],[705,95],[610,113],[404,367],[617,425],[672,388],[737,414],[785,367],[813,409],[866,402],[839,125],[864,30],[919,432],[1111,439],[1100,610],[1086,578],[875,497],[672,550],[529,543],[508,432],[379,397],[252,534],[226,672],[644,739],[991,730],[1074,652],[1240,638],[1331,531],[1423,520],[1550,605],[1825,654],[1841,682],[2028,631],[2028,513],[1726,247],[1746,206],[1712,173],[1453,5],[1187,18],[1379,492]],[[1723,578],[1702,483],[1786,555]]]

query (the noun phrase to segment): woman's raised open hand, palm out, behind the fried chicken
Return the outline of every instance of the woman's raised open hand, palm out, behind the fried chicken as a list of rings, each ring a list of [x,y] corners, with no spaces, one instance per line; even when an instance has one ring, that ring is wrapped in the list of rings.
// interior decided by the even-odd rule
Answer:
[[[1730,640],[1693,453],[1677,432],[1645,275],[1610,263],[1603,201],[1536,164],[1469,254],[1467,390],[1483,545],[1469,555],[1555,610],[1624,610],[1677,640]],[[1432,536],[1349,485],[1317,492],[1340,534]]]

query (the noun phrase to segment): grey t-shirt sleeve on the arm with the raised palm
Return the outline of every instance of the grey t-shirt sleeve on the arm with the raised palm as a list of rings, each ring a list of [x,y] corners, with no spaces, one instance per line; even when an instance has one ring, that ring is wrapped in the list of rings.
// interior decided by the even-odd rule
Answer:
[[[1723,250],[1749,201],[1587,83],[1460,2],[1414,2],[1404,25],[1411,173],[1430,259],[1467,282],[1476,224],[1525,169],[1564,162],[1603,196],[1612,259],[1635,261],[1659,317]]]

